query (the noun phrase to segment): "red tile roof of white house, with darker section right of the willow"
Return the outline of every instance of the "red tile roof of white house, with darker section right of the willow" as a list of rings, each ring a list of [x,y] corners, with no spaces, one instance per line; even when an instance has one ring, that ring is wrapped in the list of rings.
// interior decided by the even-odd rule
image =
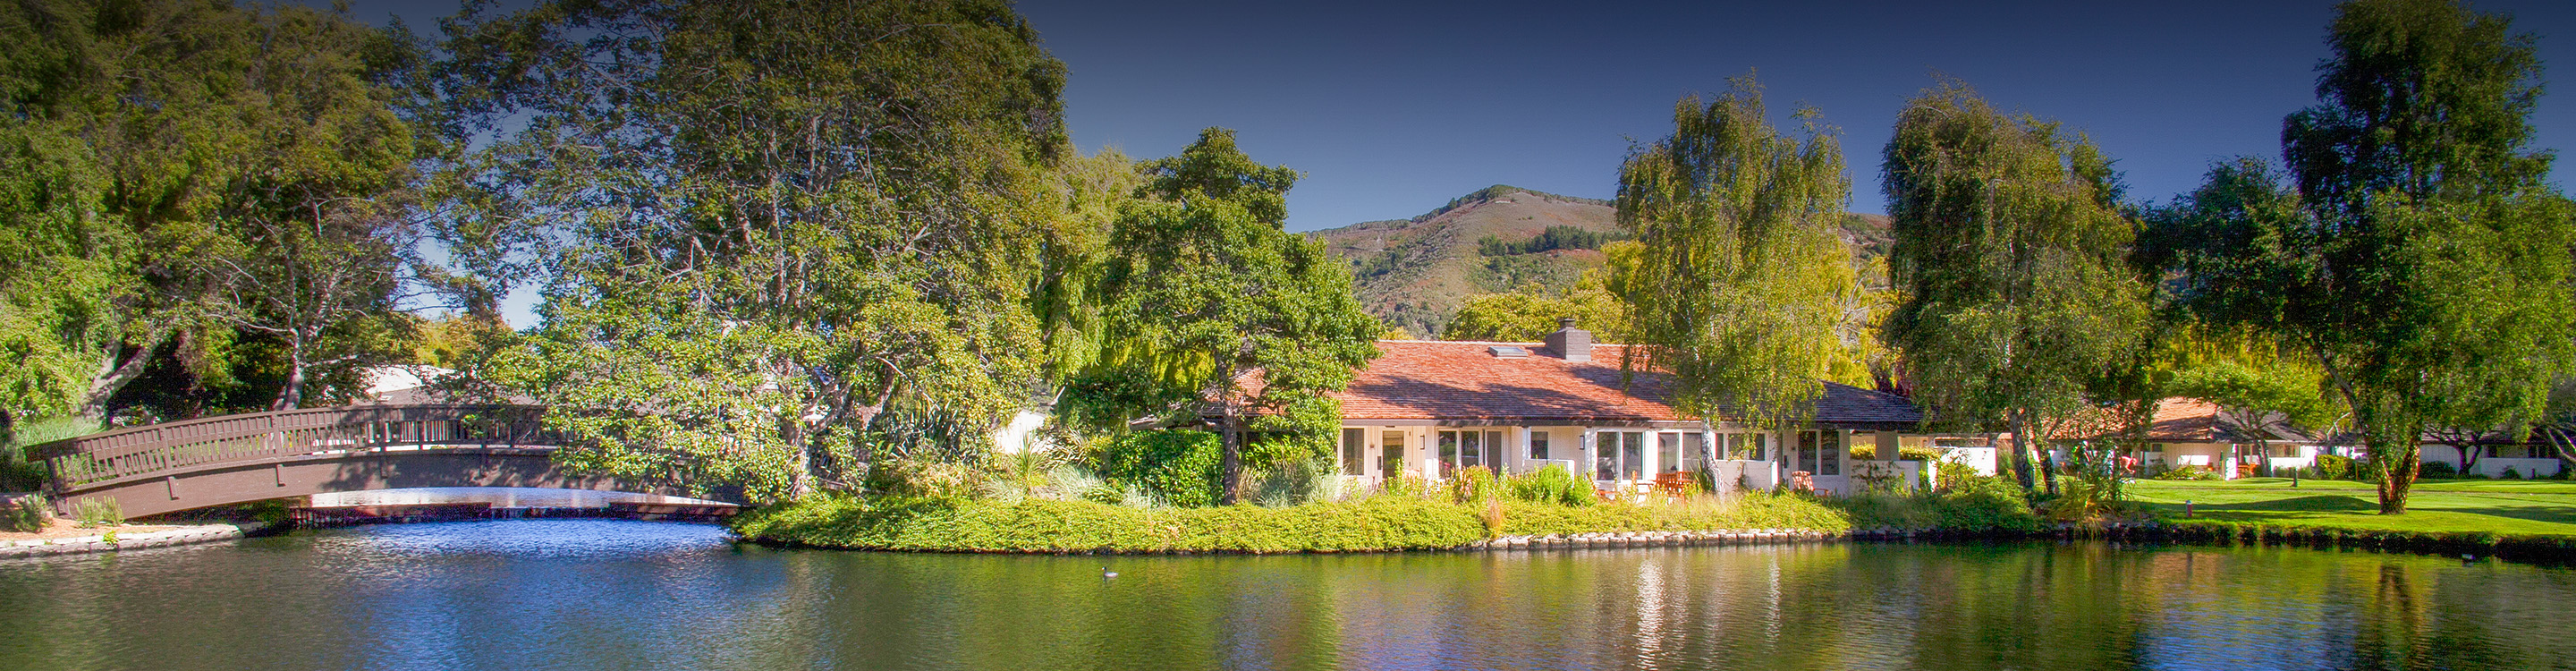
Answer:
[[[1530,356],[1494,356],[1494,346]],[[1623,346],[1592,346],[1592,361],[1553,356],[1540,343],[1378,341],[1376,361],[1342,400],[1345,421],[1497,421],[1497,423],[1633,423],[1687,421],[1672,410],[1672,377],[1641,372],[1620,390]],[[1824,385],[1816,423],[1909,428],[1922,421],[1899,395]]]

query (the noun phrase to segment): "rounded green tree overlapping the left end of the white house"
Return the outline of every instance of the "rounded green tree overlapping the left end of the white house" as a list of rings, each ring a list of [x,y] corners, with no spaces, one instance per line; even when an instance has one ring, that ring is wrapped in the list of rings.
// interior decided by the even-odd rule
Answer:
[[[1224,498],[1244,480],[1247,431],[1285,457],[1327,454],[1350,385],[1378,356],[1381,325],[1321,240],[1283,230],[1296,170],[1252,163],[1234,132],[1206,129],[1149,181],[1110,237],[1105,354],[1084,405],[1108,418],[1195,418],[1213,405]]]

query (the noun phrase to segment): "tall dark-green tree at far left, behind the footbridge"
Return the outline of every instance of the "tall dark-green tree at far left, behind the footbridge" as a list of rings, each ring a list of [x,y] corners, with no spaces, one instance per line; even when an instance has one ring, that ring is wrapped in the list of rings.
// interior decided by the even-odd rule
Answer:
[[[361,209],[399,217],[389,196],[430,150],[399,111],[407,44],[296,5],[0,8],[0,217],[23,243],[8,248],[26,255],[0,268],[0,341],[33,364],[0,372],[0,387],[70,400],[10,410],[103,418],[170,346],[191,351],[185,361],[224,359],[209,351],[232,341],[224,317],[312,289],[224,271],[276,271],[263,230],[325,227]],[[384,253],[410,240],[384,243],[363,263],[404,266]],[[325,261],[355,261],[348,253]],[[291,405],[299,390],[278,400]]]

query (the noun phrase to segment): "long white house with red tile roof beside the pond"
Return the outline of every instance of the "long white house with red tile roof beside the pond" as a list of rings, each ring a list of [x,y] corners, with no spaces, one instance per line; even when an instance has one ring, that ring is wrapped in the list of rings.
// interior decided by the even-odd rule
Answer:
[[[1718,483],[1749,488],[1803,470],[1821,490],[1850,490],[1855,477],[1914,483],[1922,467],[1850,459],[1855,444],[1899,452],[1899,434],[1922,423],[1906,397],[1824,382],[1816,418],[1795,431],[1710,423],[1669,405],[1669,374],[1623,377],[1628,348],[1592,343],[1571,320],[1543,343],[1378,341],[1378,351],[1334,395],[1342,475],[1370,483],[1553,465],[1602,488],[1705,467]]]

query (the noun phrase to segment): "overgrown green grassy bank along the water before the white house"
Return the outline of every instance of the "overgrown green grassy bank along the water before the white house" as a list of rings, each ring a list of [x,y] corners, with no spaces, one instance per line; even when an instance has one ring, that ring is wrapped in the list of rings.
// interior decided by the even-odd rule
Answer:
[[[747,511],[734,534],[768,545],[896,552],[1404,552],[1497,537],[1795,529],[2040,532],[1994,493],[1811,498],[1749,493],[1682,503],[1450,503],[1373,496],[1303,506],[1131,508],[1092,501],[819,496]]]

